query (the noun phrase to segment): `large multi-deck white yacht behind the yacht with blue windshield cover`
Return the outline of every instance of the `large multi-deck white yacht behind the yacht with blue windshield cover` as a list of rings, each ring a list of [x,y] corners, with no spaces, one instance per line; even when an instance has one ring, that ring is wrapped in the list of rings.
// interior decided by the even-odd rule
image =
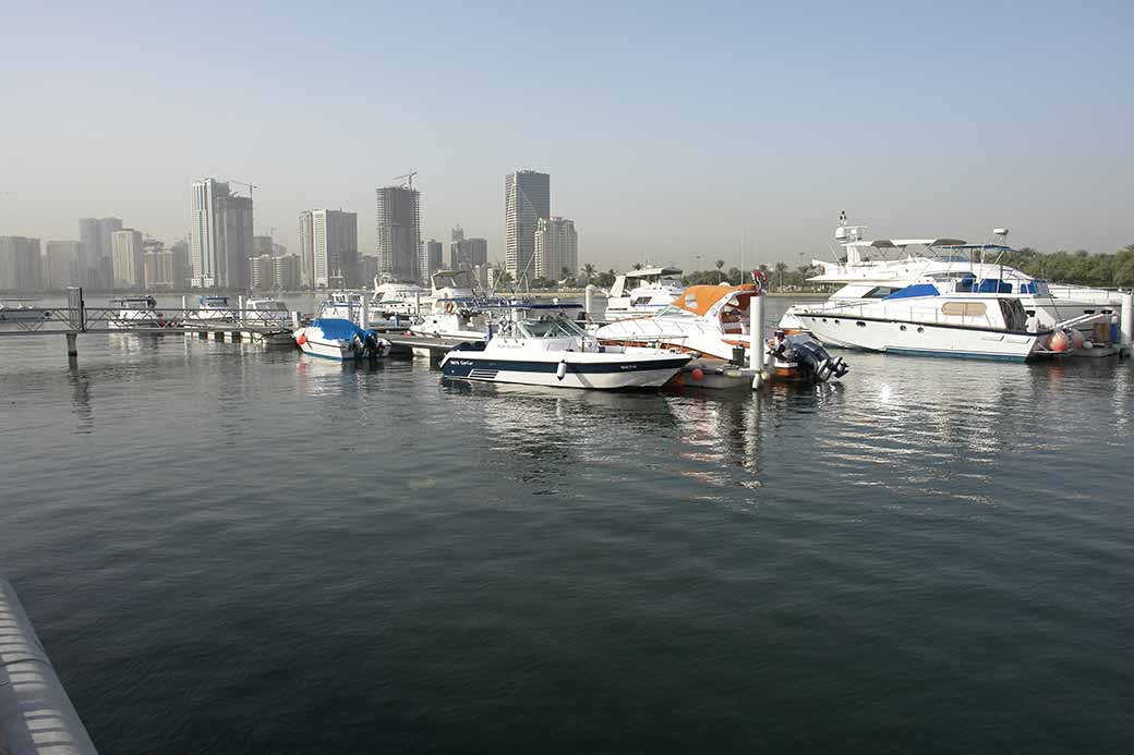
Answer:
[[[1119,294],[1085,286],[1049,285],[1031,275],[999,264],[998,258],[1010,252],[1004,244],[967,244],[956,238],[863,238],[866,226],[852,226],[846,214],[835,229],[835,240],[844,249],[844,261],[812,261],[820,274],[809,278],[816,283],[841,283],[828,299],[839,304],[865,304],[882,299],[925,277],[970,278],[981,292],[1012,296],[1019,299],[1027,314],[1035,314],[1044,328],[1084,315],[1114,315],[1120,307]],[[1008,230],[993,234],[1007,238]],[[812,304],[788,308],[780,326],[798,329],[797,311]],[[1084,328],[1091,326],[1086,317]]]

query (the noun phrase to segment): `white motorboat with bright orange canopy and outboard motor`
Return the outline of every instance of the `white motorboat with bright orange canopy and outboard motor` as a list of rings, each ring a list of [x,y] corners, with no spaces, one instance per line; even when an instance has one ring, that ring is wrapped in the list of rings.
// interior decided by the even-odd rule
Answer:
[[[689,286],[668,307],[653,316],[627,317],[600,326],[595,337],[608,346],[660,346],[689,351],[710,359],[750,363],[751,303],[762,287]],[[778,380],[813,382],[841,378],[848,367],[831,358],[806,336],[777,332],[764,345],[764,363]]]

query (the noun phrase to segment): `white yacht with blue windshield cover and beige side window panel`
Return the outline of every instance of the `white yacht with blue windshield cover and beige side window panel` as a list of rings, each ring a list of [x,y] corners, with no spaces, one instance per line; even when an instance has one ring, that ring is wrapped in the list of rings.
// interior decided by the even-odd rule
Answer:
[[[1019,296],[980,290],[966,278],[926,278],[882,299],[796,307],[827,346],[888,354],[1023,362],[1050,330],[1027,332]]]

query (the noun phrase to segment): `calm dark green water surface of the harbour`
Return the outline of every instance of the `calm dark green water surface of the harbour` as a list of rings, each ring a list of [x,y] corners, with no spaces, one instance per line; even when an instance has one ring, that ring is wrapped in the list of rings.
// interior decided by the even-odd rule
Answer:
[[[104,753],[1127,750],[1129,362],[843,356],[596,395],[0,340],[0,574]]]

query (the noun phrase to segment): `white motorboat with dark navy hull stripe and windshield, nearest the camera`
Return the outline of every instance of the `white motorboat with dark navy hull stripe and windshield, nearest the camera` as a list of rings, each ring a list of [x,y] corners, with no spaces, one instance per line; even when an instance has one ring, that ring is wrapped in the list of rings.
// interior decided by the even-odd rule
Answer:
[[[692,357],[659,348],[607,347],[555,305],[515,309],[486,342],[465,342],[441,360],[446,378],[552,388],[657,388]]]

